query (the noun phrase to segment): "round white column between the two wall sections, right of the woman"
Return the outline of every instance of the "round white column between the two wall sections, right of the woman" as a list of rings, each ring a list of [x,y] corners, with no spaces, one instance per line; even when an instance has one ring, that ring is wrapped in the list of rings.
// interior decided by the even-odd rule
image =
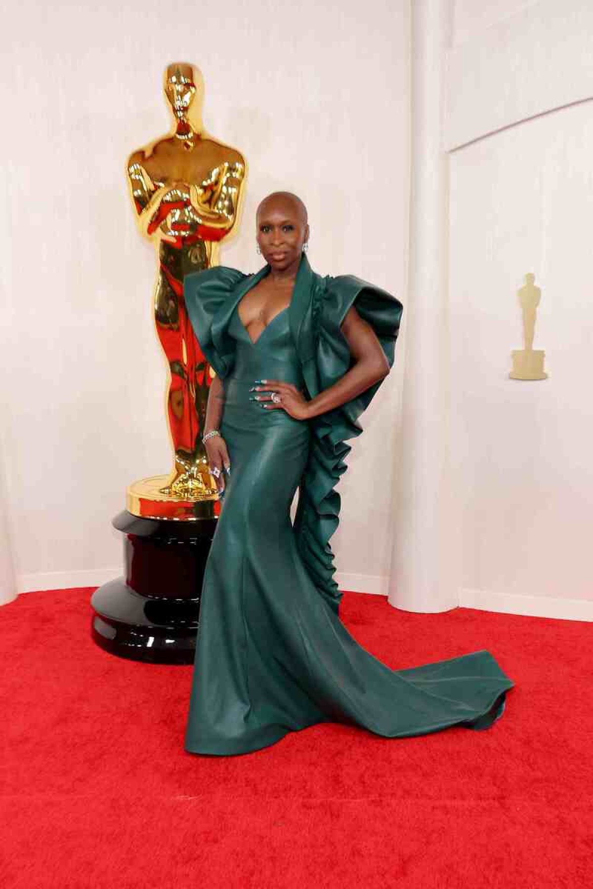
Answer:
[[[389,601],[419,612],[457,605],[460,570],[449,453],[449,176],[441,146],[452,22],[450,4],[413,4],[409,285]]]

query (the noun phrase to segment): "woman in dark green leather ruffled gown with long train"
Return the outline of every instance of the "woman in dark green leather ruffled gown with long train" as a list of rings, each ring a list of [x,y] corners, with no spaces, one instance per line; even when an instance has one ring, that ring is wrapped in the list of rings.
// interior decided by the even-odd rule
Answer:
[[[394,360],[402,305],[303,251],[307,211],[286,192],[257,212],[255,275],[189,275],[188,314],[212,381],[204,442],[224,492],[204,573],[186,749],[230,755],[319,722],[395,738],[486,728],[513,683],[478,651],[392,670],[339,617],[329,539],[346,438]],[[299,487],[294,525],[290,508]]]

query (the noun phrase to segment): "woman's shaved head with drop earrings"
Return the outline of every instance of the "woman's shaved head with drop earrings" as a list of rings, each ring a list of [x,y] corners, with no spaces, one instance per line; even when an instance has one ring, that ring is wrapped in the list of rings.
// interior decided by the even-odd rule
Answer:
[[[264,197],[256,214],[257,242],[266,262],[276,271],[296,271],[309,240],[307,207],[290,191]]]

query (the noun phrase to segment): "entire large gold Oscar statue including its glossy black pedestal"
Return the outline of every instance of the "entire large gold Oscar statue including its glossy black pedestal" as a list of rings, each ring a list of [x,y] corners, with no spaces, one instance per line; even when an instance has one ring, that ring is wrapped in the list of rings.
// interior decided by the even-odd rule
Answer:
[[[214,377],[183,299],[183,279],[218,262],[220,241],[236,228],[244,158],[202,127],[204,83],[193,65],[164,74],[171,132],[134,151],[126,166],[143,236],[158,258],[155,324],[168,366],[166,414],[174,467],[130,485],[112,521],[124,534],[124,576],[92,594],[92,637],[118,657],[190,664],[204,567],[220,516],[202,435]],[[199,521],[197,521],[199,519]]]

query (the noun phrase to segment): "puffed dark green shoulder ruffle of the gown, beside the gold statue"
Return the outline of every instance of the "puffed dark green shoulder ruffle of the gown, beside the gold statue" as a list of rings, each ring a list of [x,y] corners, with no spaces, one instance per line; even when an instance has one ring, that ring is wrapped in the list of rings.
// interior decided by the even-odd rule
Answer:
[[[197,341],[209,364],[221,379],[227,376],[234,360],[232,340],[226,332],[225,305],[245,278],[237,268],[213,266],[192,272],[183,279],[183,297]]]

